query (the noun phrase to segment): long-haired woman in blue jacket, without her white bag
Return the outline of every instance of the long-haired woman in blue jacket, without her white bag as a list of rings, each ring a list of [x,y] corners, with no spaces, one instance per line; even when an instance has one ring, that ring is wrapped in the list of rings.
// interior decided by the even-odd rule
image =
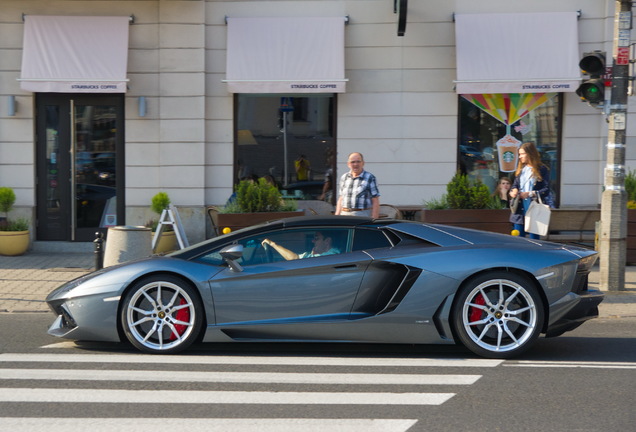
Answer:
[[[540,198],[546,204],[551,203],[550,170],[541,163],[541,156],[533,142],[525,142],[519,147],[519,158],[515,179],[510,189],[510,198],[517,201],[516,209],[510,215],[510,222],[519,236],[525,237],[524,218],[533,200]],[[552,205],[550,205],[552,207]],[[528,233],[530,238],[541,238],[538,234]]]

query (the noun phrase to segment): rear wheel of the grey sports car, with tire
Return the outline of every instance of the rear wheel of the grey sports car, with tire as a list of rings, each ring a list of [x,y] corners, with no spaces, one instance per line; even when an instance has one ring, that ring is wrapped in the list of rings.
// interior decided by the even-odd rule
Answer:
[[[543,302],[535,284],[503,271],[467,282],[451,313],[459,342],[488,358],[511,358],[527,350],[539,337],[543,320]]]

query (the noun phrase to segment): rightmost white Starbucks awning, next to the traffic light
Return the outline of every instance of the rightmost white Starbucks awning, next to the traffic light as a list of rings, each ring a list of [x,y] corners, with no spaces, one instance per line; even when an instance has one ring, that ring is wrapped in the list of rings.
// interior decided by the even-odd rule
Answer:
[[[576,12],[455,15],[457,93],[576,91]]]

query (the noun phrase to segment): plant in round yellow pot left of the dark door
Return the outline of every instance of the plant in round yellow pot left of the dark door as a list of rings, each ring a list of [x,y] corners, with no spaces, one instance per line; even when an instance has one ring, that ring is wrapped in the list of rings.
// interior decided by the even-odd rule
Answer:
[[[15,204],[15,192],[9,187],[0,187],[0,255],[22,255],[29,249],[29,221],[24,218],[9,219]]]

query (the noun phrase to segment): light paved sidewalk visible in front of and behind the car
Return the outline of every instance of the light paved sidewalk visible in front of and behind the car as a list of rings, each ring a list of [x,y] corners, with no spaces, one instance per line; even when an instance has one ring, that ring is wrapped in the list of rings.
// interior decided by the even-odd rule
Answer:
[[[53,289],[92,271],[92,252],[30,252],[0,256],[0,313],[49,312],[44,299]],[[599,289],[598,265],[590,274],[590,288]],[[625,290],[606,291],[599,317],[636,318],[636,266],[625,268]]]

